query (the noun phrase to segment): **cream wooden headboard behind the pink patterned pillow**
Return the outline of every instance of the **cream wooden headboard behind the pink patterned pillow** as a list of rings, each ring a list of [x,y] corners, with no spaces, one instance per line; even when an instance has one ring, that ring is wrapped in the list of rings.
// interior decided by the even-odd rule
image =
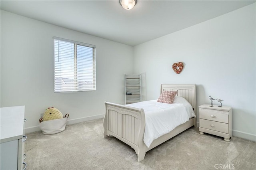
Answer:
[[[162,84],[161,93],[162,91],[178,91],[177,96],[185,98],[197,115],[196,84]]]

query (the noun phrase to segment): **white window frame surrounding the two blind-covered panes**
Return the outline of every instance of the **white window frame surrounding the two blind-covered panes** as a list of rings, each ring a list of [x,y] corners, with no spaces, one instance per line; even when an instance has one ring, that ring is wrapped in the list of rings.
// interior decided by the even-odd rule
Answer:
[[[77,79],[78,79],[78,64],[77,64],[77,48],[76,48],[76,45],[82,45],[82,46],[86,46],[86,47],[91,47],[93,48],[93,53],[92,53],[92,89],[88,89],[88,90],[78,90],[77,87],[78,86],[75,86],[76,89],[75,90],[72,90],[72,89],[69,89],[68,91],[56,91],[56,82],[55,82],[55,79],[56,79],[56,74],[55,74],[55,71],[56,71],[56,67],[55,67],[55,40],[59,40],[59,41],[62,41],[62,42],[68,42],[68,43],[74,43],[74,77],[76,80],[74,80],[76,83],[78,83]],[[96,91],[96,45],[92,45],[92,44],[88,44],[88,43],[82,43],[82,42],[77,42],[77,41],[73,41],[73,40],[68,40],[68,39],[64,39],[64,38],[59,38],[59,37],[53,37],[53,47],[54,47],[54,54],[53,54],[53,58],[54,58],[54,93],[76,93],[76,92],[85,92],[85,91]]]

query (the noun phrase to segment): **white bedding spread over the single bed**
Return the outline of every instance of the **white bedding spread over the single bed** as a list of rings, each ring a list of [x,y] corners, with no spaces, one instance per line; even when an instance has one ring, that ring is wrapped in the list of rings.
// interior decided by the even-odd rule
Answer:
[[[169,133],[189,118],[196,117],[190,103],[178,96],[174,98],[172,104],[151,100],[132,103],[128,106],[144,109],[146,126],[143,141],[148,148],[153,140]]]

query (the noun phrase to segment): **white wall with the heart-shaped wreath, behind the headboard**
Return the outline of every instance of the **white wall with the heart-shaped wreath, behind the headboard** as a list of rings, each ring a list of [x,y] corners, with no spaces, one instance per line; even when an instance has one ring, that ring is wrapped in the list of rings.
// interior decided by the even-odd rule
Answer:
[[[234,136],[256,140],[255,3],[134,47],[134,72],[146,73],[147,99],[161,83],[196,83],[197,104],[208,96],[233,108]],[[176,74],[172,64],[182,61]],[[214,101],[215,105],[219,105]]]

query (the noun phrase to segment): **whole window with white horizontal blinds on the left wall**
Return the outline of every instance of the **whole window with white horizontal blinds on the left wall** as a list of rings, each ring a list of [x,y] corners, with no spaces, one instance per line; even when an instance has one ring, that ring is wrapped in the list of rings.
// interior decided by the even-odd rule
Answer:
[[[96,90],[95,48],[54,37],[54,92]]]

